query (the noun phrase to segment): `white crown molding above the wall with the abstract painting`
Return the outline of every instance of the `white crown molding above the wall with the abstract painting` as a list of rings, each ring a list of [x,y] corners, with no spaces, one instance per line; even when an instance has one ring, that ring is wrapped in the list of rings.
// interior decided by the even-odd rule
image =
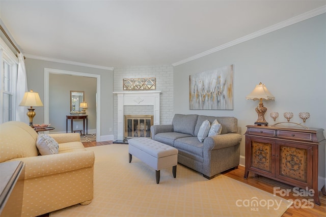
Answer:
[[[223,44],[221,46],[218,46],[218,47],[212,48],[210,50],[204,51],[204,52],[199,53],[197,55],[188,57],[186,59],[183,59],[181,61],[178,61],[176,63],[173,63],[172,66],[175,67],[175,66],[179,66],[181,64],[185,64],[185,63],[187,63],[189,61],[192,61],[192,60],[201,58],[203,56],[207,56],[209,54],[218,52],[218,51],[223,50],[223,49],[226,49],[228,47],[232,47],[232,46],[237,45],[237,44],[240,44],[242,42],[246,42],[246,41],[249,41],[251,39],[257,38],[259,36],[263,36],[265,34],[274,32],[274,31],[276,31],[278,29],[284,28],[286,26],[292,25],[292,24],[297,23],[297,22],[301,22],[303,20],[309,19],[311,17],[317,16],[317,15],[320,15],[320,14],[323,14],[323,13],[326,13],[326,6],[322,6],[322,7],[316,8],[314,10],[308,11],[308,12],[303,13],[301,15],[298,15],[298,16],[292,17],[290,19],[287,19],[285,21],[279,22],[279,23],[277,23],[275,25],[271,25],[269,27],[263,28],[263,29],[255,32],[255,33],[252,33],[252,34],[249,34],[247,36],[241,37],[239,39],[233,40],[231,42],[228,42],[228,43]]]

